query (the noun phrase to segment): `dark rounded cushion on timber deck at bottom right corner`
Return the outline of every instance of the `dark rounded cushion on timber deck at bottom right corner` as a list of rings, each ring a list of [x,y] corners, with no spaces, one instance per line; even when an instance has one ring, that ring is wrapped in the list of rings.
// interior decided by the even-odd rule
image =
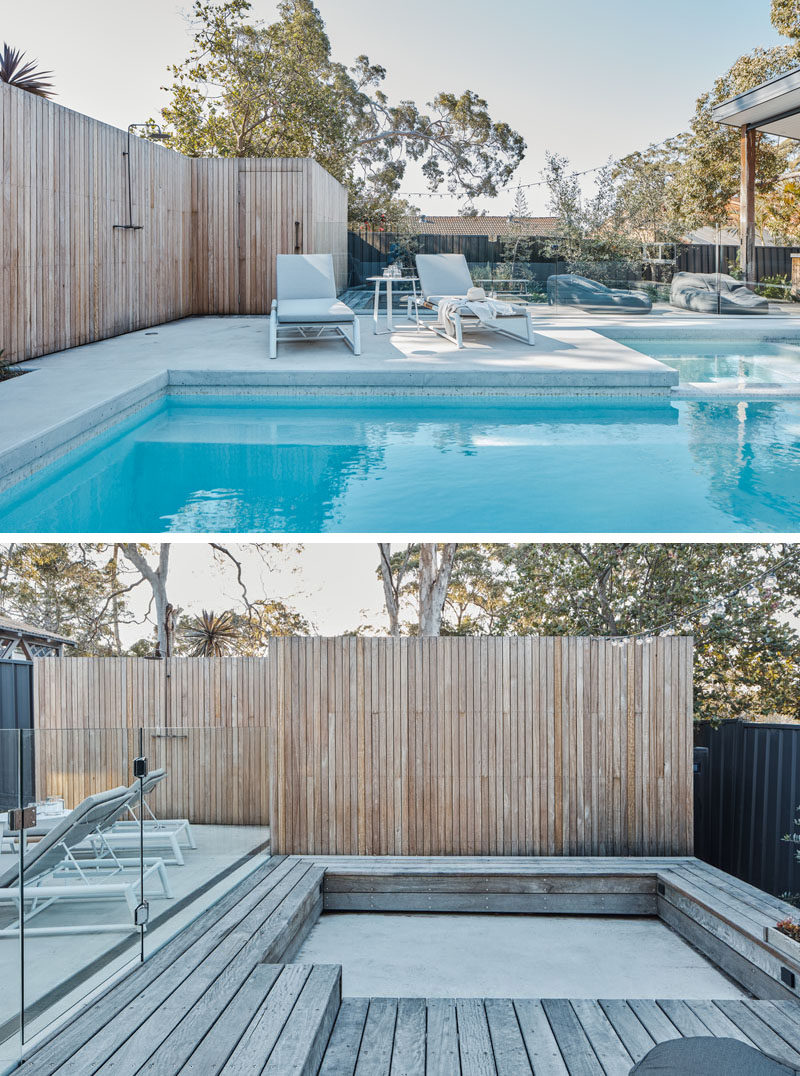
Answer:
[[[738,1038],[671,1038],[654,1046],[631,1076],[797,1076],[798,1070],[767,1057]]]

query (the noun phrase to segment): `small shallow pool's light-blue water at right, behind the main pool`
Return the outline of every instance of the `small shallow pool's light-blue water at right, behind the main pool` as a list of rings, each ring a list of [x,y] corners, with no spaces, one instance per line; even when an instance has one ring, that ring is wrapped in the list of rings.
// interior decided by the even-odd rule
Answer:
[[[728,386],[796,384],[800,382],[800,345],[753,342],[721,343],[686,340],[627,340],[620,343],[677,370],[682,382]]]

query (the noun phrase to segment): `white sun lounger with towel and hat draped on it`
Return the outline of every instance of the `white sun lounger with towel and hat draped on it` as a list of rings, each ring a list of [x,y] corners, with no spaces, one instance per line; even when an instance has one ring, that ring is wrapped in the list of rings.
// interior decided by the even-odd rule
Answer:
[[[410,296],[408,299],[409,321],[415,302],[418,313],[420,307],[438,313],[443,299],[455,300],[445,317],[445,327],[438,324],[427,324],[425,327],[450,340],[457,348],[464,346],[465,329],[489,329],[531,345],[535,342],[530,307],[510,303],[511,313],[497,313],[483,320],[471,311],[466,295],[473,286],[473,279],[463,254],[418,254],[416,260],[421,296],[416,299]],[[524,324],[523,332],[515,332],[507,327],[509,322],[518,322],[520,318]],[[502,324],[503,322],[506,324]]]

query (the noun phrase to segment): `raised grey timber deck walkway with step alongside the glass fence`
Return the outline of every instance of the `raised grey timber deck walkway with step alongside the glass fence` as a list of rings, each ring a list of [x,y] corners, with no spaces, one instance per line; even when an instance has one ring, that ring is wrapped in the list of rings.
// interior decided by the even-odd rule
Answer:
[[[248,1058],[256,1049],[262,1067],[278,1051],[283,1067],[275,1071],[294,1072],[291,1044],[305,1042],[300,1032],[312,1031],[318,1016],[323,1031],[333,1021],[340,971],[270,965],[291,959],[319,916],[322,877],[311,863],[272,858],[56,1031],[17,1072],[211,1073],[228,1071],[237,1051]],[[237,1072],[262,1067],[237,1063]]]

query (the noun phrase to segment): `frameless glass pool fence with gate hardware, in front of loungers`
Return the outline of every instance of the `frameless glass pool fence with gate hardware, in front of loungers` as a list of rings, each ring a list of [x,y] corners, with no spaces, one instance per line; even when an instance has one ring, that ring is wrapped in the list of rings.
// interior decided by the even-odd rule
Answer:
[[[261,727],[0,731],[0,1063],[267,861],[268,755]]]

